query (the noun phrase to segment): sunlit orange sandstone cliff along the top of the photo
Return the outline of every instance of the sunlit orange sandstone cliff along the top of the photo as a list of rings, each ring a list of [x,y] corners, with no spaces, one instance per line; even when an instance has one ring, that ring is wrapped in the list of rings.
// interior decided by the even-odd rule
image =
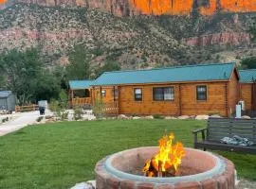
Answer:
[[[81,6],[102,9],[117,16],[190,15],[194,9],[202,15],[215,12],[254,12],[255,0],[17,0],[41,6]]]

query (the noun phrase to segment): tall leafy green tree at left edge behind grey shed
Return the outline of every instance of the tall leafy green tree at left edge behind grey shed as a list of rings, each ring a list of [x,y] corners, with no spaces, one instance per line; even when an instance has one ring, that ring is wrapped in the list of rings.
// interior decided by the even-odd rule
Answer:
[[[3,53],[0,59],[7,81],[3,88],[12,91],[19,100],[28,101],[37,85],[35,78],[40,74],[41,62],[37,50],[28,49],[23,53],[14,49]]]

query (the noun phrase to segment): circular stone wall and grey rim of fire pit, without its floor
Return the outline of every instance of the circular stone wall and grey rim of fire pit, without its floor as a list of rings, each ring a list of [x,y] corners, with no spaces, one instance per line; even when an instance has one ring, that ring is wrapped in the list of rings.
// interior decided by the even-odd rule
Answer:
[[[209,152],[196,149],[186,148],[186,151],[197,156],[197,158],[202,155],[202,159],[200,158],[197,161],[199,161],[201,167],[203,165],[207,170],[191,176],[147,178],[127,173],[126,170],[129,169],[129,165],[123,167],[124,163],[120,163],[122,165],[119,165],[117,169],[115,167],[117,161],[122,160],[131,163],[131,166],[135,166],[134,157],[141,155],[147,158],[148,154],[152,155],[155,150],[155,147],[140,147],[119,152],[101,160],[95,168],[96,189],[234,189],[234,164],[223,157],[215,155],[210,157]],[[203,157],[204,155],[209,156],[209,159]],[[219,160],[218,163],[221,164],[212,163],[213,159],[210,160],[210,158],[216,158],[216,160]],[[212,163],[212,168],[209,167],[209,163]]]

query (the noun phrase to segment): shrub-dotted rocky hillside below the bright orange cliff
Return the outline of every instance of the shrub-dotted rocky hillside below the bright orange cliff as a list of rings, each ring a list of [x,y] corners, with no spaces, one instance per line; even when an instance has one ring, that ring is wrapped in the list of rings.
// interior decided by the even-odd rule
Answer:
[[[84,5],[100,8],[103,2],[106,1],[86,1]],[[111,5],[110,11],[114,11],[116,7]],[[119,15],[128,11],[123,9],[128,8],[125,6],[119,4]],[[111,60],[124,69],[222,61],[228,57],[222,58],[222,52],[230,52],[229,60],[234,60],[245,53],[256,55],[246,33],[254,22],[253,15],[119,18],[95,9],[16,4],[0,13],[0,53],[39,46],[46,63],[54,65],[66,63],[74,45],[82,43],[95,65]]]

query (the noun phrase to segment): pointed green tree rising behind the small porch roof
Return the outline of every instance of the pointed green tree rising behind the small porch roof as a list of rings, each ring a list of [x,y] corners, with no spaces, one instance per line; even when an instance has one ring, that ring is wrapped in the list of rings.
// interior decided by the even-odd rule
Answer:
[[[87,79],[89,77],[90,57],[82,44],[76,45],[70,53],[68,60],[69,65],[66,66],[66,79]]]

